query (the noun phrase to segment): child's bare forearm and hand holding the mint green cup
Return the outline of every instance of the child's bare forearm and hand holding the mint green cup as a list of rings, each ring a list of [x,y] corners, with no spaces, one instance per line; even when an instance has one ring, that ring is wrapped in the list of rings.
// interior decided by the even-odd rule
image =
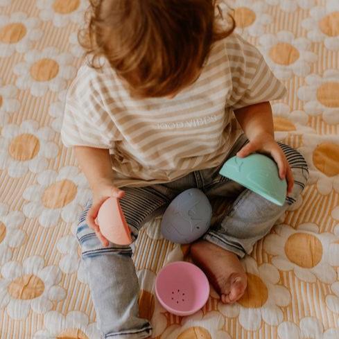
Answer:
[[[234,110],[234,115],[250,141],[236,155],[246,157],[255,151],[270,154],[277,162],[281,179],[286,177],[287,192],[290,193],[293,189],[293,175],[284,152],[275,141],[270,103],[266,101],[242,107]]]

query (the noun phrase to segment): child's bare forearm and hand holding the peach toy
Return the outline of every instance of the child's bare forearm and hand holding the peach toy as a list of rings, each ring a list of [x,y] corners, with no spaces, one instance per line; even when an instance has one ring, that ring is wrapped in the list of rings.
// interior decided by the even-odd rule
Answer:
[[[87,146],[74,146],[74,150],[78,164],[87,177],[93,192],[93,204],[87,213],[87,223],[89,227],[96,231],[96,235],[103,245],[107,246],[108,240],[101,234],[95,219],[98,210],[107,198],[112,196],[122,198],[125,192],[114,186],[109,150]]]

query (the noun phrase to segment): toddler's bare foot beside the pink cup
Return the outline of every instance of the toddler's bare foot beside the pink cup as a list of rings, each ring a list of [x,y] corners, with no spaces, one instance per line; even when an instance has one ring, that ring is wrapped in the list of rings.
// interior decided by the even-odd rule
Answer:
[[[224,304],[233,304],[241,298],[247,277],[236,254],[199,240],[191,245],[191,258],[205,272]]]

